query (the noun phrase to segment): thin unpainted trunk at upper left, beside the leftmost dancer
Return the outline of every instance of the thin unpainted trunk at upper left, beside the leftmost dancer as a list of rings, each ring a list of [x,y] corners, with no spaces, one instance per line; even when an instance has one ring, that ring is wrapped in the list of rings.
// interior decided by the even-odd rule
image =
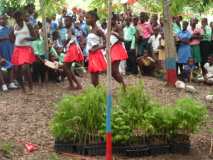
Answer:
[[[40,8],[41,8],[41,14],[42,14],[42,37],[44,40],[44,49],[45,49],[45,53],[48,54],[49,52],[49,47],[48,47],[48,36],[47,36],[47,25],[46,25],[46,16],[45,16],[45,0],[39,0],[40,2]]]

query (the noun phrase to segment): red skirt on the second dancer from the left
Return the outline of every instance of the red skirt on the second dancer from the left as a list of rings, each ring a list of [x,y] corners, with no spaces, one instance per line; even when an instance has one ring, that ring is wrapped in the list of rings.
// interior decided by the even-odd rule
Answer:
[[[82,62],[83,60],[84,56],[80,47],[75,43],[71,44],[64,57],[64,62],[65,63]]]

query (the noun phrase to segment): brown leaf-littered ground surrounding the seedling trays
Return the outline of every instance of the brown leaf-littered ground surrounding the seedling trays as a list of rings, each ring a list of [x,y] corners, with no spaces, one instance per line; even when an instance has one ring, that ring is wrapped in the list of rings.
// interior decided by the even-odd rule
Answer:
[[[210,138],[213,136],[213,104],[205,101],[205,96],[213,93],[213,87],[196,84],[199,91],[196,94],[186,93],[172,87],[165,82],[152,77],[126,76],[128,85],[144,80],[145,89],[152,98],[162,104],[172,104],[176,99],[190,96],[205,103],[209,110],[209,119],[199,133],[191,136],[192,151],[189,155],[163,155],[157,157],[137,158],[143,160],[210,160]],[[101,83],[105,84],[106,77],[101,76]],[[81,78],[84,88],[90,84],[89,76]],[[49,130],[49,122],[55,111],[55,104],[64,95],[78,94],[81,91],[68,91],[67,81],[62,83],[48,83],[45,86],[35,85],[33,95],[23,94],[21,90],[0,92],[0,144],[12,144],[9,148],[10,156],[6,156],[0,145],[0,160],[89,160],[104,159],[104,157],[81,157],[78,155],[56,155],[53,150],[54,138]],[[113,81],[113,91],[119,85]],[[38,145],[38,150],[28,153],[25,143]],[[213,156],[213,155],[212,155]],[[114,159],[129,159],[115,157]],[[132,159],[133,160],[133,159]],[[135,158],[136,160],[136,158]]]

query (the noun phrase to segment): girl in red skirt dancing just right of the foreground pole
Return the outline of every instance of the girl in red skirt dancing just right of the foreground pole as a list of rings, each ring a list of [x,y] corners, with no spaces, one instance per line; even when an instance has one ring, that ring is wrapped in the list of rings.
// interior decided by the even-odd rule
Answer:
[[[110,50],[110,56],[112,60],[112,76],[113,78],[123,85],[124,90],[126,85],[123,77],[119,72],[120,61],[128,59],[127,51],[122,43],[122,27],[117,24],[117,18],[112,18],[112,35],[110,37],[110,43],[112,45]]]

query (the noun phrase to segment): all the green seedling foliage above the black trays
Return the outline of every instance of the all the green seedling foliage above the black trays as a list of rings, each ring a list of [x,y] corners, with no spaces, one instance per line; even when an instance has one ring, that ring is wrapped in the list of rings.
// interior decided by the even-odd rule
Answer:
[[[128,142],[135,135],[190,135],[207,118],[206,107],[194,99],[180,99],[173,106],[162,106],[151,101],[142,81],[127,90],[114,96],[113,143]],[[51,123],[53,135],[58,140],[81,144],[105,139],[105,104],[106,94],[101,87],[63,98]]]

